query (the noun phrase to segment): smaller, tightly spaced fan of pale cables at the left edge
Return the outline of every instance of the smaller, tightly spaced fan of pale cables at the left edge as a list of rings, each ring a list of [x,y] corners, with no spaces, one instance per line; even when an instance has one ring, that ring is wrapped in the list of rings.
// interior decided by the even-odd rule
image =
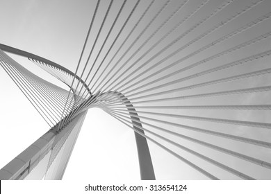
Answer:
[[[0,52],[1,67],[13,79],[48,125],[54,127],[60,121],[61,111],[65,107],[65,100],[74,104],[72,96],[68,96],[67,90],[35,76],[6,53]]]

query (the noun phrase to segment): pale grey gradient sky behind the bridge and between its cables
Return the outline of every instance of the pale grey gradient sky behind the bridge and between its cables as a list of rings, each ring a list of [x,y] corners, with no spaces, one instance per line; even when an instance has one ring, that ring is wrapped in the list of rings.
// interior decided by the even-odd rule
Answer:
[[[236,0],[229,7],[222,10],[215,17],[211,17],[210,20],[204,23],[204,25],[200,26],[198,30],[192,31],[183,39],[181,43],[178,43],[168,51],[165,51],[165,54],[159,56],[154,62],[158,62],[165,57],[165,55],[172,53],[176,48],[183,46],[193,38],[201,35],[203,32],[217,24],[219,21],[223,21],[224,19],[229,18],[231,15],[236,12],[242,10],[246,6],[249,6],[254,1],[246,1],[246,0]],[[101,9],[106,10],[108,5],[107,0],[101,1]],[[116,3],[118,2],[118,3]],[[122,2],[122,1],[121,1]],[[150,1],[141,2],[138,8],[138,12],[140,14],[137,17],[132,17],[131,22],[127,25],[127,29],[124,29],[124,34],[129,32],[128,29],[131,29],[135,24],[136,19],[141,15],[144,10],[144,6],[148,4]],[[148,3],[146,3],[148,2]],[[154,6],[151,8],[151,11],[148,12],[147,18],[152,17],[157,12],[158,8],[165,1],[156,1]],[[197,21],[206,17],[210,14],[217,6],[223,1],[211,0],[202,8],[202,11],[197,13],[195,17],[192,17],[189,22],[183,24],[182,28],[178,28],[170,37],[164,40],[163,45],[168,44],[172,41],[172,37],[177,37],[188,28],[190,28],[193,24],[196,24]],[[124,9],[124,15],[120,17],[120,21],[124,21],[126,19],[126,15],[128,14],[127,10],[131,10],[135,1],[129,0],[127,3],[127,8]],[[174,24],[179,21],[179,18],[183,18],[189,12],[195,9],[198,5],[199,1],[191,0],[186,7],[179,12],[176,17],[173,18]],[[120,7],[119,1],[115,1],[113,3],[113,10],[117,10]],[[15,1],[15,0],[0,0],[0,43],[7,44],[8,46],[13,46],[15,48],[22,49],[24,51],[28,51],[30,53],[34,53],[35,55],[40,55],[43,58],[47,58],[53,62],[56,62],[63,67],[71,71],[75,71],[76,64],[79,60],[79,55],[81,53],[81,49],[83,47],[83,42],[85,40],[85,35],[88,31],[88,26],[90,24],[90,20],[92,17],[93,10],[95,8],[96,1]],[[179,5],[179,0],[172,1],[169,6],[171,9],[175,9],[176,5]],[[249,21],[253,21],[254,19],[261,17],[261,15],[267,14],[270,11],[271,1],[266,0],[263,3],[260,3],[258,6],[250,10],[249,12],[241,15],[236,20],[233,20],[229,25],[224,26],[218,30],[215,30],[214,33],[208,35],[206,38],[201,39],[197,44],[193,44],[192,46],[186,48],[181,54],[174,56],[174,58],[170,58],[168,63],[174,62],[179,58],[183,58],[184,56],[192,53],[192,51],[209,44],[212,41],[215,41],[219,37],[223,35],[227,35],[231,31],[239,28],[247,24]],[[102,12],[100,10],[100,12]],[[112,23],[114,14],[116,12],[110,13],[108,21],[106,21],[106,29],[109,28],[110,22]],[[161,23],[162,19],[164,20],[167,15],[170,15],[170,12],[165,12],[161,15],[161,19],[158,18],[156,22],[154,22],[151,29],[156,29]],[[114,17],[113,17],[114,16]],[[97,16],[97,21],[101,21],[103,14],[99,14]],[[139,27],[145,26],[147,24],[147,20],[143,21]],[[95,24],[94,26],[94,35],[97,33],[99,26]],[[122,24],[122,23],[121,23]],[[120,26],[120,24],[117,24]],[[148,46],[154,44],[158,37],[167,33],[169,28],[172,28],[172,24],[168,24],[161,30],[159,30],[158,34],[154,39],[151,39]],[[118,28],[119,29],[119,28]],[[107,29],[108,30],[108,29]],[[105,36],[105,33],[102,35]],[[224,42],[224,44],[218,44],[213,48],[209,48],[206,51],[199,53],[195,58],[190,58],[186,60],[183,64],[184,67],[188,64],[192,64],[199,60],[202,60],[208,56],[214,55],[218,51],[224,51],[227,48],[231,48],[238,44],[248,41],[254,37],[262,35],[264,33],[268,33],[271,31],[270,19],[268,21],[263,21],[263,23],[254,26],[253,28],[249,28],[245,33],[241,33],[232,37],[231,39]],[[114,31],[113,34],[116,35],[117,31]],[[140,30],[136,31],[140,32]],[[140,43],[135,45],[133,51],[136,51],[137,46],[140,46],[142,42],[152,33],[151,30],[147,31],[146,35],[142,37]],[[138,34],[132,36],[131,39],[136,37]],[[94,38],[90,36],[90,44]],[[112,39],[110,39],[112,42]],[[129,41],[131,43],[131,41]],[[120,45],[121,41],[117,42],[116,45]],[[98,43],[101,45],[101,41]],[[163,46],[162,45],[162,46]],[[158,48],[163,48],[163,47]],[[90,47],[88,47],[90,48]],[[149,47],[147,47],[149,48]],[[137,56],[140,56],[144,53],[147,48],[142,49],[138,53]],[[154,51],[151,51],[149,57],[154,55],[158,48],[155,48]],[[242,49],[242,51],[233,52],[231,55],[224,55],[222,58],[218,58],[217,60],[212,60],[208,67],[198,67],[197,71],[204,71],[205,69],[209,69],[211,67],[215,67],[217,64],[226,64],[227,62],[232,62],[241,58],[245,58],[249,55],[254,55],[256,53],[260,53],[263,51],[267,51],[271,48],[270,38],[265,39],[265,41],[259,42],[253,46],[247,46]],[[124,48],[125,50],[125,48]],[[95,50],[95,54],[99,50]],[[149,59],[149,57],[147,59]],[[124,58],[125,60],[128,57]],[[134,62],[137,58],[133,59]],[[144,62],[147,60],[143,60]],[[22,65],[24,67],[27,66],[32,71],[38,72],[40,76],[44,76],[47,78],[48,75],[42,73],[35,65],[31,62],[27,62],[26,60],[19,59],[22,61]],[[93,60],[93,59],[92,59]],[[123,60],[123,61],[125,61]],[[153,63],[154,63],[153,62]],[[142,62],[140,63],[142,64]],[[256,65],[255,65],[256,64]],[[249,63],[247,65],[247,69],[242,67],[236,67],[234,69],[225,70],[222,73],[217,73],[215,76],[209,78],[208,76],[203,76],[204,78],[198,78],[193,81],[189,81],[188,85],[195,84],[197,82],[202,82],[206,80],[215,80],[221,77],[227,77],[232,75],[238,75],[239,73],[246,73],[251,71],[256,71],[260,69],[266,69],[270,67],[270,57],[264,58],[262,60],[258,60],[257,63]],[[177,67],[174,67],[178,69]],[[82,69],[79,69],[81,72]],[[140,70],[140,72],[145,69]],[[165,73],[172,72],[172,69],[166,71]],[[187,71],[186,73],[181,74],[182,76],[188,76],[194,72],[193,69]],[[121,73],[121,72],[120,72]],[[129,72],[130,73],[130,72]],[[231,75],[231,73],[233,73]],[[161,73],[161,75],[164,75]],[[226,76],[224,76],[226,75]],[[28,147],[31,143],[33,143],[36,139],[38,139],[42,134],[49,130],[49,127],[45,121],[43,121],[42,117],[36,112],[35,108],[28,102],[28,100],[24,97],[21,91],[16,87],[16,85],[12,82],[12,80],[8,77],[3,69],[0,69],[0,88],[1,88],[1,137],[0,137],[0,168],[8,163],[11,159],[16,157],[19,152],[22,152],[25,148]],[[174,76],[176,79],[178,76]],[[53,78],[50,78],[53,79]],[[54,79],[53,79],[54,80]],[[233,85],[231,82],[224,83],[222,85],[212,85],[210,87],[204,87],[204,89],[200,88],[197,92],[190,91],[182,91],[177,94],[174,93],[170,97],[174,96],[183,96],[190,94],[201,94],[208,93],[211,91],[221,91],[228,89],[239,89],[239,88],[247,88],[247,87],[258,87],[270,85],[270,75],[261,76],[261,78],[249,78],[246,80],[240,80],[238,82],[234,82]],[[61,84],[60,84],[61,85]],[[159,85],[159,82],[156,83]],[[176,87],[173,85],[172,87],[167,87],[166,89],[172,89]],[[182,86],[181,86],[182,87]],[[67,88],[66,88],[67,89]],[[156,90],[161,91],[161,90]],[[148,93],[147,93],[148,94]],[[168,97],[169,95],[167,95]],[[137,97],[137,96],[136,96]],[[163,98],[164,96],[158,96],[157,98]],[[216,101],[214,101],[216,100]],[[270,104],[270,93],[263,94],[249,94],[244,98],[244,96],[227,96],[227,97],[217,97],[217,98],[203,98],[203,100],[199,100],[199,98],[195,98],[192,100],[184,100],[177,102],[170,102],[167,105],[202,105],[202,104],[212,104],[215,102],[217,105],[222,102],[225,105],[230,105],[232,102],[239,104]],[[144,109],[142,111],[145,111]],[[185,113],[181,110],[176,110],[175,114],[188,114],[195,116],[206,116],[206,117],[217,117],[217,118],[227,118],[227,119],[236,119],[236,120],[244,120],[244,121],[258,121],[270,123],[270,112],[230,112],[230,111],[204,111],[199,110],[199,112],[195,113],[195,110],[186,110]],[[145,116],[142,114],[142,116]],[[160,118],[157,116],[157,118]],[[162,118],[162,117],[161,117]],[[255,130],[255,128],[247,127],[245,133],[243,132],[243,127],[237,127],[235,125],[221,125],[219,123],[204,123],[203,121],[192,121],[186,119],[174,119],[168,118],[169,121],[181,123],[183,125],[193,125],[195,127],[202,127],[207,129],[215,129],[220,132],[227,132],[230,134],[240,134],[252,139],[259,139],[262,141],[270,141],[270,132],[268,130]],[[144,121],[144,119],[143,119]],[[149,122],[151,123],[151,122]],[[163,127],[161,124],[160,127]],[[228,129],[231,129],[230,131]],[[172,127],[171,130],[176,130],[175,127]],[[210,143],[217,143],[218,145],[227,145],[227,148],[234,148],[234,150],[238,152],[242,152],[247,155],[251,155],[253,157],[257,157],[266,161],[271,162],[270,158],[270,149],[265,148],[255,148],[255,146],[244,145],[242,143],[234,143],[233,141],[220,141],[221,139],[214,137],[213,139],[209,139],[209,137],[204,136],[203,134],[196,134],[193,132],[184,131],[184,134],[190,134],[192,136],[196,136],[199,139],[208,139]],[[163,134],[163,133],[161,133]],[[179,140],[176,140],[179,141]],[[211,152],[207,148],[202,148],[200,145],[194,145],[187,141],[181,141],[184,145],[192,146],[194,149],[202,149],[202,153],[210,154],[210,155],[221,155],[220,159],[223,161],[225,158],[222,154],[218,152]],[[183,164],[179,159],[176,159],[169,155],[164,150],[157,148],[153,143],[149,143],[151,157],[154,163],[154,170],[156,173],[157,179],[206,179],[204,175],[197,173],[197,171],[193,170],[186,164]],[[223,173],[222,170],[218,168],[213,168],[212,166],[206,164],[206,162],[197,160],[195,157],[191,157],[187,155],[185,152],[179,152],[180,155],[186,156],[193,161],[195,164],[201,164],[211,173],[215,173],[219,175],[221,179],[237,179],[237,177],[233,175],[229,175],[229,173]],[[231,160],[232,159],[232,160]],[[254,166],[250,164],[245,164],[242,161],[234,160],[231,157],[227,158],[227,161],[224,161],[227,164],[231,164],[233,167],[238,168],[238,170],[245,172],[248,171],[249,175],[252,177],[261,177],[262,179],[270,179],[270,171],[266,171],[258,166],[255,167],[254,170],[249,171],[249,168],[254,168]],[[245,165],[244,165],[245,164]],[[139,169],[138,169],[138,159],[136,152],[136,142],[134,140],[134,134],[131,129],[115,120],[101,109],[90,109],[88,111],[88,115],[85,118],[85,123],[81,129],[79,134],[79,138],[77,139],[74,151],[72,153],[72,157],[67,166],[67,170],[63,179],[88,179],[88,180],[97,180],[97,179],[140,179]]]

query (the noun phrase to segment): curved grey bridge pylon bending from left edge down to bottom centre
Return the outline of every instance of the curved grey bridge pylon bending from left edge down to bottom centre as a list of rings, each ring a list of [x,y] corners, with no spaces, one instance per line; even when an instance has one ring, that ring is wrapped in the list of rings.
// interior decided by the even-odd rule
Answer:
[[[144,134],[144,131],[141,130],[139,127],[137,127],[137,125],[140,125],[142,127],[142,124],[140,122],[140,118],[138,118],[138,114],[136,113],[136,109],[133,107],[133,105],[131,105],[131,102],[124,96],[124,94],[121,94],[117,91],[108,91],[104,94],[98,93],[96,95],[92,95],[92,93],[91,93],[90,89],[88,88],[88,86],[86,85],[86,83],[81,78],[79,78],[79,76],[75,75],[74,73],[72,73],[68,69],[65,69],[65,67],[62,67],[59,64],[56,64],[55,62],[51,62],[50,60],[41,58],[38,55],[33,55],[32,53],[28,53],[26,51],[22,51],[17,48],[6,46],[4,44],[0,44],[0,49],[2,51],[6,51],[8,53],[20,55],[22,57],[28,58],[29,60],[32,60],[35,62],[40,62],[42,64],[46,64],[47,67],[49,67],[49,68],[58,69],[58,71],[64,71],[65,73],[69,74],[70,76],[74,76],[76,78],[76,80],[81,82],[83,84],[83,86],[85,87],[85,89],[88,90],[88,92],[90,94],[90,97],[88,98],[88,100],[85,99],[85,101],[81,101],[81,102],[79,102],[80,104],[75,106],[76,105],[76,98],[75,98],[76,97],[76,89],[72,85],[69,85],[68,82],[63,81],[61,78],[56,76],[56,74],[53,75],[56,78],[58,78],[59,80],[62,80],[66,85],[68,85],[72,89],[72,92],[74,93],[74,105],[73,105],[72,111],[69,112],[67,114],[67,116],[65,116],[65,118],[63,118],[60,122],[58,122],[54,127],[51,128],[51,132],[54,132],[54,134],[60,133],[60,132],[58,132],[58,130],[56,130],[57,126],[60,124],[61,124],[60,130],[65,131],[65,127],[71,121],[73,121],[74,118],[76,118],[76,116],[82,114],[83,112],[86,111],[86,109],[89,109],[90,107],[92,107],[91,106],[92,103],[97,103],[99,101],[99,100],[97,100],[97,97],[100,98],[101,96],[104,96],[105,94],[118,96],[122,100],[124,105],[126,105],[127,110],[129,111],[129,114],[131,116],[131,122],[134,124],[133,128],[135,130],[136,145],[137,145],[137,149],[138,149],[138,159],[139,159],[139,164],[140,164],[141,179],[144,179],[144,180],[155,179],[154,168],[153,168],[153,165],[151,162],[151,155],[149,152],[149,146],[147,143],[147,139],[144,136],[141,136],[140,134],[138,134],[138,132],[141,132],[142,134]],[[96,98],[94,98],[94,96]],[[79,96],[79,94],[78,94],[78,98],[81,99],[81,96]],[[82,107],[84,107],[84,108],[82,109]],[[63,134],[62,136],[65,136],[65,135]],[[57,141],[59,141],[60,139],[61,138],[54,138],[53,147],[54,147],[54,145],[56,145],[58,143]],[[58,150],[58,152],[59,152],[59,150]],[[56,157],[56,156],[54,156],[54,157]],[[54,159],[52,159],[52,160],[54,160]]]

